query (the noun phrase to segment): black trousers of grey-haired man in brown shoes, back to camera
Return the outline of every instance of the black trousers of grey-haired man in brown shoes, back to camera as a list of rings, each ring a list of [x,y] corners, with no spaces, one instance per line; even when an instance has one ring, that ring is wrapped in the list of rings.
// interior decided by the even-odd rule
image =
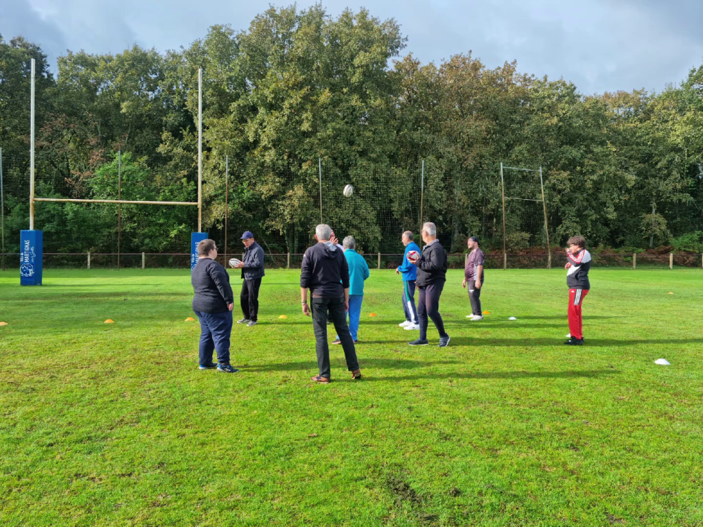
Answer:
[[[327,315],[332,317],[337,335],[342,341],[344,358],[350,372],[359,370],[359,360],[356,358],[354,340],[347,326],[347,314],[344,312],[344,298],[313,298],[312,325],[315,330],[315,351],[317,352],[317,367],[320,377],[330,378],[330,346],[327,341]]]

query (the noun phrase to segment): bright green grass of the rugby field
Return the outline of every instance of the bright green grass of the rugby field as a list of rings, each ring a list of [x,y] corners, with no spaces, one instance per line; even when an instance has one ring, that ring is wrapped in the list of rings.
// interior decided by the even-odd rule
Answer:
[[[333,346],[318,386],[297,271],[233,328],[238,375],[197,369],[187,271],[0,273],[0,524],[702,525],[703,271],[595,268],[579,348],[563,270],[486,274],[491,315],[450,271],[451,345],[418,349],[372,271],[364,378]]]

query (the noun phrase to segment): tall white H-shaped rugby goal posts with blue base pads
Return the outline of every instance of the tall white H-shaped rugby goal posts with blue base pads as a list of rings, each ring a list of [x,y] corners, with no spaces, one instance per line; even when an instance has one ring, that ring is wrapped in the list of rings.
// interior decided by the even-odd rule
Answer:
[[[111,203],[139,205],[186,205],[198,207],[198,232],[191,233],[191,270],[198,261],[198,242],[207,239],[202,230],[202,68],[198,69],[198,201],[134,201],[134,200],[78,200],[59,197],[34,197],[34,68],[30,95],[30,228],[20,233],[20,285],[41,285],[43,275],[44,233],[34,230],[34,203]]]

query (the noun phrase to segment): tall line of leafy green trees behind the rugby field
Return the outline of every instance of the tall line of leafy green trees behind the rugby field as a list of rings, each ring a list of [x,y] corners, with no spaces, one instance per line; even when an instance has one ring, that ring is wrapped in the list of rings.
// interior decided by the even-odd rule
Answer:
[[[491,69],[469,52],[423,64],[405,47],[394,20],[365,9],[333,18],[321,5],[269,8],[241,32],[214,25],[166,53],[68,51],[56,72],[39,46],[0,36],[6,247],[18,249],[28,224],[34,58],[38,196],[115,199],[120,151],[122,199],[197,200],[202,68],[212,237],[222,236],[228,159],[231,237],[252,230],[271,252],[301,252],[320,216],[322,163],[325,221],[366,251],[399,251],[402,230],[417,231],[424,162],[423,218],[446,247],[477,233],[502,248],[504,162],[543,167],[553,245],[581,234],[605,247],[701,250],[703,66],[660,93],[585,96],[515,62]],[[344,200],[350,182],[358,192]],[[528,231],[542,216],[510,210],[509,249],[540,239]],[[47,252],[112,252],[116,214],[38,203],[35,224]],[[183,252],[196,229],[195,207],[122,207],[125,252]]]

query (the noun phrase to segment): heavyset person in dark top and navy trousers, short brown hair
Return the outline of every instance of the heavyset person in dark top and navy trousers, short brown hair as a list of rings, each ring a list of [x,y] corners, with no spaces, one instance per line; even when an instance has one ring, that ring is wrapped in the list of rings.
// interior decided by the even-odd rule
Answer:
[[[191,284],[193,311],[200,320],[200,370],[236,373],[239,370],[229,363],[229,340],[232,332],[234,294],[229,285],[229,275],[215,259],[217,246],[213,240],[198,244],[198,263],[193,267]],[[212,351],[217,349],[219,364],[212,362]]]

